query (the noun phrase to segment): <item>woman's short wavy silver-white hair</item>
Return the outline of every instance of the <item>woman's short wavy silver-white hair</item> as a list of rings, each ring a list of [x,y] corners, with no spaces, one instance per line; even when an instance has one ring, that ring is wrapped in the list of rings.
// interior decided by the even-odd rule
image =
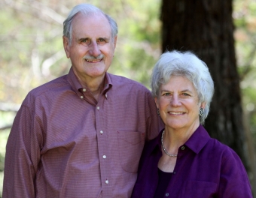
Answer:
[[[151,76],[151,90],[154,98],[159,98],[160,86],[168,83],[172,76],[186,77],[194,84],[199,102],[206,103],[203,116],[200,116],[200,124],[203,124],[209,114],[214,93],[213,80],[206,63],[189,51],[164,52],[154,66]]]

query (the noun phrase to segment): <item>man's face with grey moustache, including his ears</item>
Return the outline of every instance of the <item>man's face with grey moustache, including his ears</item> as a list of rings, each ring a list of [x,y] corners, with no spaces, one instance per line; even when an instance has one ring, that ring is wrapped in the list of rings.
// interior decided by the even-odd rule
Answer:
[[[111,65],[117,37],[111,37],[108,20],[102,14],[85,17],[78,13],[72,21],[72,42],[63,37],[67,58],[82,82],[102,79]]]

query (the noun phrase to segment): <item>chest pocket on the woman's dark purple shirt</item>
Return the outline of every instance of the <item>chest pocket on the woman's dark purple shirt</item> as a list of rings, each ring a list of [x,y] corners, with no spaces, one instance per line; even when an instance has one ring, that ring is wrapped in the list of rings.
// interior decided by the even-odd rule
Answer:
[[[210,198],[215,197],[217,184],[208,181],[187,181],[181,197]]]

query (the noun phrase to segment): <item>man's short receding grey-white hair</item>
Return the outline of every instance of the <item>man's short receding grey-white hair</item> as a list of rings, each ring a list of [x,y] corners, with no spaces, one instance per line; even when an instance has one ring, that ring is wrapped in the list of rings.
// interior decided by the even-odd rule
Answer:
[[[95,7],[90,4],[76,5],[70,11],[69,16],[66,18],[66,20],[63,22],[63,35],[69,38],[69,45],[71,44],[71,40],[72,40],[72,21],[78,13],[83,13],[84,16],[92,16],[93,14],[102,14],[107,18],[108,23],[111,27],[112,39],[114,39],[114,37],[118,34],[117,23],[108,14],[104,13],[98,7]]]

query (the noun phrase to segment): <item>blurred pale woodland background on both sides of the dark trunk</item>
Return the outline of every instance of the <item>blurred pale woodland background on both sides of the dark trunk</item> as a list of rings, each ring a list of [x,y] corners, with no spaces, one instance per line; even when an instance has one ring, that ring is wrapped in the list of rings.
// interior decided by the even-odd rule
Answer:
[[[31,89],[68,73],[71,65],[62,49],[62,23],[72,7],[84,2],[100,7],[119,26],[109,72],[149,86],[151,69],[163,52],[164,0],[0,0],[0,197],[5,145],[14,116]],[[243,162],[248,163],[245,166],[252,188],[256,189],[256,1],[230,3],[235,26],[231,32],[236,52],[234,66],[242,107],[240,121],[245,136],[242,147],[248,155]],[[236,134],[233,136],[236,139]]]

